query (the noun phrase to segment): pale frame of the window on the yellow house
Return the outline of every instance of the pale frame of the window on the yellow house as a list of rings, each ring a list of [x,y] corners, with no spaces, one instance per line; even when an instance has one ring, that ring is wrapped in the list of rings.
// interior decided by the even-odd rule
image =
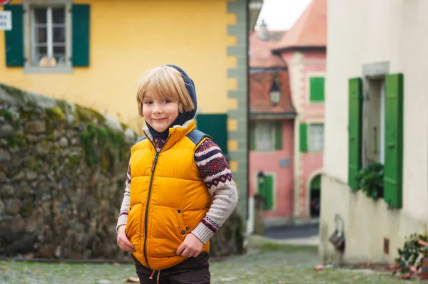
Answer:
[[[72,19],[71,8],[72,0],[23,0],[24,7],[24,73],[72,73],[73,64],[71,62],[71,38],[72,38]],[[65,9],[65,25],[66,25],[66,62],[65,64],[56,65],[54,67],[41,67],[32,65],[32,58],[34,58],[34,48],[32,48],[34,41],[34,33],[32,31],[32,21],[34,21],[34,6],[64,6]],[[48,23],[49,24],[49,23]],[[52,54],[52,46],[49,44],[52,39],[51,29],[48,28],[48,54]],[[51,53],[49,53],[49,46]]]

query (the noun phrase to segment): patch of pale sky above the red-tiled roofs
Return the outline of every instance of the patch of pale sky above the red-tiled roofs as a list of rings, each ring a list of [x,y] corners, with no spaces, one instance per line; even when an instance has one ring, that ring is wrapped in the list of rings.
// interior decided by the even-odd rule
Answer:
[[[299,19],[311,0],[264,0],[258,24],[265,20],[270,30],[287,30]]]

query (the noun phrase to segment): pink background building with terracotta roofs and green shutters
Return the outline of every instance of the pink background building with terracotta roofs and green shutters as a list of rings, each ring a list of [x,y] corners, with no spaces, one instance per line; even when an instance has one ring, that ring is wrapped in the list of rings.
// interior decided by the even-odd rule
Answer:
[[[262,25],[257,38],[250,35],[250,196],[263,195],[267,225],[319,216],[326,22],[326,0],[312,0],[289,31]],[[276,89],[268,79],[277,70],[286,77],[278,88],[282,104],[272,100]],[[268,147],[270,132],[275,141]]]

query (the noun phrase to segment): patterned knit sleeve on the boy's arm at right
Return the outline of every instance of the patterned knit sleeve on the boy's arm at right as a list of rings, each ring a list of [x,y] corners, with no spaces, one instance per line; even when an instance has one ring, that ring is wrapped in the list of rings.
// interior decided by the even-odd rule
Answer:
[[[205,140],[195,151],[195,162],[213,204],[192,233],[206,243],[225,223],[238,204],[238,192],[223,152],[213,140]]]

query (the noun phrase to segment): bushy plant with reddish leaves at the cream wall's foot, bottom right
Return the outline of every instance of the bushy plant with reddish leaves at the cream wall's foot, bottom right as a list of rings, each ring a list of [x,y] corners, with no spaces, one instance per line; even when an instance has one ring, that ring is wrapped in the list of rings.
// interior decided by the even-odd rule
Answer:
[[[417,270],[422,268],[425,247],[418,243],[419,240],[427,241],[426,231],[419,234],[412,233],[404,241],[403,248],[398,249],[398,257],[395,258],[395,263],[399,266],[401,273],[409,273],[412,267]]]

